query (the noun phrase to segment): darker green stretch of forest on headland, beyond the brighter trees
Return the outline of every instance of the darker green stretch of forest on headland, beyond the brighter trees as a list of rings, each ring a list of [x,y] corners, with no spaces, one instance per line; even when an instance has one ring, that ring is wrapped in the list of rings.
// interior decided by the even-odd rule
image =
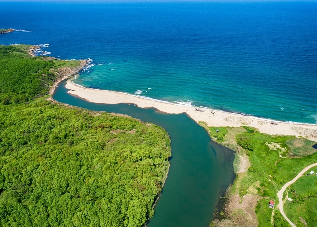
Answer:
[[[0,103],[23,103],[47,94],[56,79],[53,61],[26,58],[26,51],[17,46],[0,46]]]

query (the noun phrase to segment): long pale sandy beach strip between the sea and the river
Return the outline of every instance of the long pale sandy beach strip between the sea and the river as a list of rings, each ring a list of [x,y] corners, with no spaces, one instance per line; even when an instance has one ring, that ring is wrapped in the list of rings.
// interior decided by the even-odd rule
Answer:
[[[270,135],[302,136],[317,142],[317,125],[290,124],[284,122],[278,122],[277,125],[274,125],[271,124],[270,120],[257,119],[242,114],[226,113],[205,108],[199,108],[204,109],[204,112],[199,112],[195,110],[196,107],[174,105],[121,92],[84,88],[72,83],[70,80],[67,81],[66,88],[69,89],[69,94],[77,95],[90,102],[105,104],[133,103],[141,108],[153,107],[165,113],[187,113],[196,122],[204,121],[208,126],[240,127],[245,125],[255,127],[259,129],[260,132]]]

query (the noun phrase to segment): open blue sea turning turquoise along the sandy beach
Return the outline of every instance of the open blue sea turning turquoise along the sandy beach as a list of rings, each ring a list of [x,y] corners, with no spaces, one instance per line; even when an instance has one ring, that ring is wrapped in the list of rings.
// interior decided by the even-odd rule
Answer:
[[[83,86],[316,124],[317,2],[0,8],[0,28],[25,30],[0,35],[0,44],[49,44],[55,57],[92,58],[76,79]]]

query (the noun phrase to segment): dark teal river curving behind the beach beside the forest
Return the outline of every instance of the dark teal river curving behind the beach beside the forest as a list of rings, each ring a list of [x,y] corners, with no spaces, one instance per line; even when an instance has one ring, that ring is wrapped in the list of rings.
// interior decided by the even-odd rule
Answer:
[[[67,93],[65,83],[53,98],[94,111],[122,113],[166,129],[172,158],[163,192],[148,227],[207,227],[220,192],[233,182],[233,151],[210,141],[208,133],[187,114],[168,114],[135,105],[91,103]]]

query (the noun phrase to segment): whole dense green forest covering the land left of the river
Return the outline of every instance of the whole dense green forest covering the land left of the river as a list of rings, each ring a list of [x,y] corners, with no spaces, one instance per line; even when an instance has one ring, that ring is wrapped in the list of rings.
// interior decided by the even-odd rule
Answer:
[[[0,226],[143,226],[168,171],[166,131],[48,101],[53,60],[24,54],[0,47]]]

